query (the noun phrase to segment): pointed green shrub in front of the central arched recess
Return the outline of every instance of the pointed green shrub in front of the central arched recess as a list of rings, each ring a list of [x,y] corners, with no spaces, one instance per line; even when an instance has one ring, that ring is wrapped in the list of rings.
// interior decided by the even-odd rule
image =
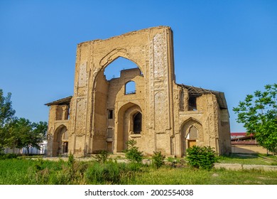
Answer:
[[[136,141],[134,139],[130,139],[126,142],[128,148],[124,150],[125,156],[131,162],[141,163],[143,154],[142,151],[139,151],[139,148],[136,145]]]

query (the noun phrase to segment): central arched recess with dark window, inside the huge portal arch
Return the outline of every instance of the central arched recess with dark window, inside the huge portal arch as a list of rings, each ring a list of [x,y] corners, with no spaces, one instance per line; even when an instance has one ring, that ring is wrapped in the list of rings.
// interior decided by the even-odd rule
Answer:
[[[139,137],[143,133],[143,112],[138,104],[127,103],[119,109],[117,117],[116,152],[127,148],[129,136]]]

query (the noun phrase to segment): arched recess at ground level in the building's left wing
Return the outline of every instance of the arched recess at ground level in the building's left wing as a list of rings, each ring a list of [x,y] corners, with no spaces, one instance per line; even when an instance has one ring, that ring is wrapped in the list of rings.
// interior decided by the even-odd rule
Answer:
[[[68,153],[68,131],[65,125],[60,125],[54,133],[53,156],[63,156]]]

